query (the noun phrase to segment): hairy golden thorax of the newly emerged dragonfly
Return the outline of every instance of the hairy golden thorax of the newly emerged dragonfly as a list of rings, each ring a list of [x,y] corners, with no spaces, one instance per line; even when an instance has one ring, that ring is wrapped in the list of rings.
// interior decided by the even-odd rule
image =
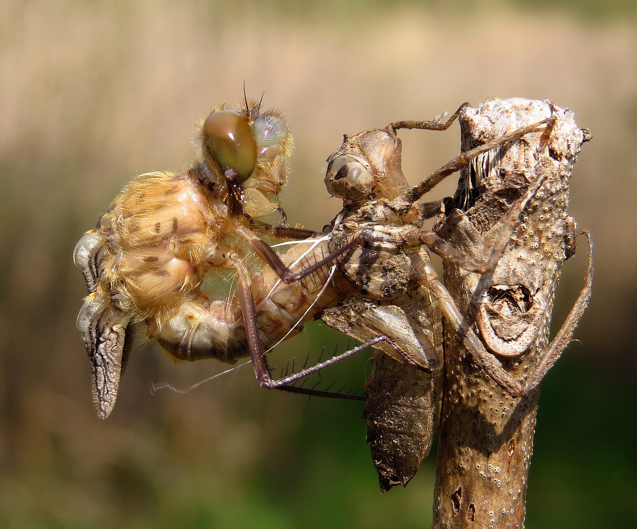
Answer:
[[[227,210],[196,169],[129,184],[99,222],[108,243],[98,289],[108,285],[120,309],[139,320],[173,309],[236,251]]]

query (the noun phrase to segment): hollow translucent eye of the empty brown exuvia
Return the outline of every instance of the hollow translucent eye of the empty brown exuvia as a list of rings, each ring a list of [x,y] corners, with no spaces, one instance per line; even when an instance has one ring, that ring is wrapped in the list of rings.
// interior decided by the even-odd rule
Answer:
[[[341,155],[327,166],[327,191],[348,201],[367,201],[373,195],[374,176],[366,160],[354,155]]]

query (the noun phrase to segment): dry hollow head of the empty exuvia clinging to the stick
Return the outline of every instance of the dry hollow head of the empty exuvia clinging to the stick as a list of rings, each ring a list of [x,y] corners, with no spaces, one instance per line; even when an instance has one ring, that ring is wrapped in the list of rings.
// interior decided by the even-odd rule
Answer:
[[[405,223],[418,220],[415,209],[398,216],[388,207],[409,185],[404,178],[402,143],[395,132],[371,129],[344,136],[328,159],[327,191],[343,199],[343,215],[359,222]]]

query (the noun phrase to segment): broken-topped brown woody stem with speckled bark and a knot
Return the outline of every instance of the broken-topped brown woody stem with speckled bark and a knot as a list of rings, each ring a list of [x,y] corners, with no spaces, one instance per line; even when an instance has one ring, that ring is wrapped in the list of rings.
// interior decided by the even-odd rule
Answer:
[[[569,178],[580,145],[590,136],[575,125],[571,111],[548,101],[496,99],[460,116],[466,151],[551,115],[557,122],[548,132],[527,134],[464,169],[454,199],[445,202],[445,218],[434,228],[458,250],[487,258],[499,219],[546,175],[492,274],[480,276],[445,263],[445,285],[469,325],[523,385],[547,351],[561,266],[575,252]],[[445,325],[433,528],[524,526],[539,395],[538,386],[510,397]]]

